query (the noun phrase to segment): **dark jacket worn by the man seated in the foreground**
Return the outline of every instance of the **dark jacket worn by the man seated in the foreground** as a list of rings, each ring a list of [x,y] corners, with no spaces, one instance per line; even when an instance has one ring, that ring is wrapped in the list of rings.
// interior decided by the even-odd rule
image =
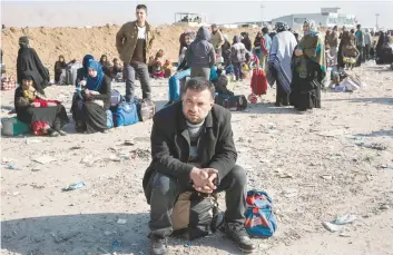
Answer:
[[[144,189],[150,176],[158,171],[173,177],[180,187],[190,182],[194,165],[188,164],[189,134],[181,101],[158,111],[153,119],[151,164],[144,176]],[[217,184],[234,168],[237,153],[230,126],[230,111],[214,105],[199,137],[198,167],[218,170]],[[199,165],[200,164],[200,165]]]

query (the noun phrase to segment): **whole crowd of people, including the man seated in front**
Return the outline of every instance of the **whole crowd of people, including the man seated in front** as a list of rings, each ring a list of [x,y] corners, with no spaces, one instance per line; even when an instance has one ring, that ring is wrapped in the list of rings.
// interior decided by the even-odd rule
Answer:
[[[255,251],[244,228],[247,178],[245,170],[236,165],[230,112],[214,104],[218,88],[209,80],[232,72],[232,68],[235,80],[240,81],[245,77],[244,66],[261,68],[266,71],[267,82],[276,86],[277,107],[292,105],[299,111],[320,108],[327,68],[353,68],[379,57],[387,36],[381,33],[374,43],[369,31],[363,32],[357,26],[357,31],[343,28],[341,32],[334,27],[323,38],[315,22],[306,20],[301,38],[285,22],[277,22],[274,31],[264,27],[254,43],[246,32],[234,36],[229,42],[213,24],[180,36],[178,66],[171,73],[171,63],[164,59],[163,50],[151,57],[155,35],[146,21],[147,7],[137,6],[136,17],[136,21],[125,23],[116,35],[116,48],[124,65],[118,59],[111,63],[106,55],[99,61],[91,55],[83,57],[71,106],[76,130],[107,133],[107,110],[116,77],[121,76],[126,82],[127,102],[135,101],[136,78],[141,84],[143,100],[151,101],[150,77],[169,77],[169,86],[173,82],[177,88],[176,100],[154,117],[153,159],[143,182],[150,205],[151,254],[167,254],[166,238],[173,233],[171,212],[177,196],[184,192],[205,195],[226,192],[223,231],[242,251]],[[28,37],[21,37],[19,46],[20,86],[14,94],[18,119],[29,124],[36,135],[67,135],[62,130],[69,122],[65,107],[45,94],[48,69],[29,47]],[[55,65],[56,82],[72,63],[75,60],[66,62],[59,56]],[[218,67],[216,76],[212,75],[214,67]]]

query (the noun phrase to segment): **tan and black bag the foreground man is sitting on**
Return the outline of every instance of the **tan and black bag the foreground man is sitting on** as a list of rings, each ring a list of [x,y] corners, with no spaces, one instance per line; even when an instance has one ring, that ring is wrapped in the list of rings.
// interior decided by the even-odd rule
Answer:
[[[189,241],[207,236],[218,228],[217,197],[195,192],[181,193],[170,217],[174,235],[185,235]]]

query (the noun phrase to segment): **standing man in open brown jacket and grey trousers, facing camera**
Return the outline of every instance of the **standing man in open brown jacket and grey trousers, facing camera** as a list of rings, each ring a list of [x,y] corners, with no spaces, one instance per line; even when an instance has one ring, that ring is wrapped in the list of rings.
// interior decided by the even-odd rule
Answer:
[[[134,100],[136,73],[140,80],[143,99],[151,99],[147,60],[155,37],[150,24],[146,21],[145,4],[137,6],[136,16],[136,21],[125,23],[116,35],[116,48],[124,61],[127,101]]]

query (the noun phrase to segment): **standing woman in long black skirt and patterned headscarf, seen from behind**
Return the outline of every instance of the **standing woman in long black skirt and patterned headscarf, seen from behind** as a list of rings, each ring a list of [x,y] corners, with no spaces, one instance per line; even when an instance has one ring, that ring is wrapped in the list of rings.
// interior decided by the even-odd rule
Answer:
[[[321,87],[326,75],[325,47],[318,35],[315,21],[306,20],[304,37],[295,50],[292,62],[289,102],[297,110],[321,108]]]

